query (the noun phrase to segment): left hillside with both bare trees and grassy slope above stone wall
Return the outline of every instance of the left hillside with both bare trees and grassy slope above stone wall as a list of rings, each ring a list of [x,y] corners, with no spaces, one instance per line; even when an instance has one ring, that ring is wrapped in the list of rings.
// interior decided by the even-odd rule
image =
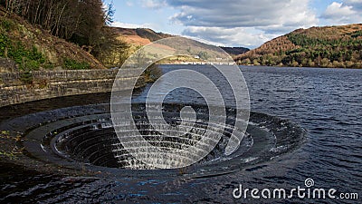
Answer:
[[[19,69],[104,68],[110,53],[126,46],[108,26],[114,10],[101,0],[1,0],[0,6],[0,57]]]

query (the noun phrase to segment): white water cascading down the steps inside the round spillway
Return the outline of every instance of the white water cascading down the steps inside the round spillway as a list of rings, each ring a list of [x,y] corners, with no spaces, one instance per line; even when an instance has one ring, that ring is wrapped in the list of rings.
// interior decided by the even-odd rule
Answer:
[[[157,104],[148,104],[148,114],[142,112],[146,107],[138,105],[138,109],[132,110],[132,120],[135,121],[134,127],[137,127],[137,130],[130,124],[124,125],[128,119],[124,118],[122,121],[118,118],[119,127],[116,130],[119,131],[119,137],[122,137],[123,142],[115,144],[117,149],[114,152],[119,162],[130,169],[183,167],[202,160],[207,155],[207,160],[221,157],[226,153],[227,141],[231,138],[243,139],[243,132],[230,131],[233,130],[234,123],[231,120],[234,118],[232,112],[229,112],[229,123],[232,128],[227,130],[223,123],[209,121],[211,117],[207,106],[194,106],[196,112],[190,106],[183,107],[183,104],[166,104],[162,108],[164,110],[162,115],[157,116],[149,114]],[[141,138],[138,137],[139,133]]]

